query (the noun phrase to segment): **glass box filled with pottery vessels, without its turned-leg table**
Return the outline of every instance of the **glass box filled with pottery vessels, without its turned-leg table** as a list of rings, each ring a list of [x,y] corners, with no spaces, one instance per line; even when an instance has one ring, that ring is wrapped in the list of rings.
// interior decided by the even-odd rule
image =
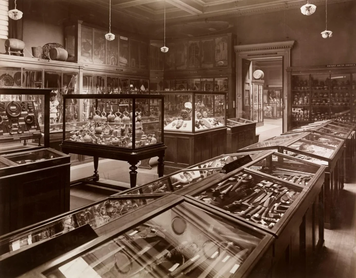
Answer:
[[[81,126],[72,124],[72,136],[63,132],[63,141],[72,144],[110,146],[138,149],[162,144],[163,97],[140,94],[111,94],[108,98],[98,95],[65,96],[64,103],[74,104],[73,113],[83,115]]]

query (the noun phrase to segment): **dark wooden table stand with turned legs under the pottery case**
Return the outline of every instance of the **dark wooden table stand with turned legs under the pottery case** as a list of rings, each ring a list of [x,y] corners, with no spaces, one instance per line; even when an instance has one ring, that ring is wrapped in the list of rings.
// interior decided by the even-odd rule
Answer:
[[[166,146],[162,144],[156,144],[154,146],[149,146],[142,149],[136,150],[122,150],[122,149],[113,149],[106,145],[80,145],[75,144],[76,142],[66,142],[64,141],[61,144],[63,153],[65,154],[79,154],[79,155],[88,155],[94,157],[94,175],[83,180],[83,182],[92,181],[94,184],[104,187],[110,187],[108,184],[103,184],[99,182],[98,166],[99,166],[99,157],[107,159],[115,159],[121,161],[127,161],[131,166],[130,169],[130,186],[136,186],[137,179],[137,164],[138,161],[152,158],[158,156],[158,176],[163,176],[163,166],[164,166],[164,151]],[[74,182],[72,182],[73,184]],[[75,181],[78,183],[78,181]],[[116,189],[126,190],[127,188],[121,186],[114,186]]]

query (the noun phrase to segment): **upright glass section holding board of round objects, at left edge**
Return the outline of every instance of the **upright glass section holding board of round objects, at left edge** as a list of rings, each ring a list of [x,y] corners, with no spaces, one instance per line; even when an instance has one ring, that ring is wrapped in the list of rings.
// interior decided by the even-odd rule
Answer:
[[[50,91],[0,88],[0,154],[49,147]]]

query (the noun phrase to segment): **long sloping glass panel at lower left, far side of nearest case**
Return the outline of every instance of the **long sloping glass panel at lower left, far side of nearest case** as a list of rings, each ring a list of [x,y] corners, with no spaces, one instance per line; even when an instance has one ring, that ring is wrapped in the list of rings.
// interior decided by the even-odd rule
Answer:
[[[107,197],[104,200],[62,213],[21,230],[7,233],[0,236],[0,261],[11,256],[16,256],[22,250],[27,250],[46,240],[59,237],[86,224],[89,224],[98,236],[102,236],[109,231],[109,227],[102,228],[107,223],[161,196],[155,194],[153,196],[130,195]]]

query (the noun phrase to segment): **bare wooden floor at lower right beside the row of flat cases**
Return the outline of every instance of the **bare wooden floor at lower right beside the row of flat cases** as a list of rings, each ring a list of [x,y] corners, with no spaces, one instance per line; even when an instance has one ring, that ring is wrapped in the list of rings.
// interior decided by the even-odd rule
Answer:
[[[345,184],[338,217],[338,227],[325,230],[325,247],[312,278],[356,277],[356,175]]]

